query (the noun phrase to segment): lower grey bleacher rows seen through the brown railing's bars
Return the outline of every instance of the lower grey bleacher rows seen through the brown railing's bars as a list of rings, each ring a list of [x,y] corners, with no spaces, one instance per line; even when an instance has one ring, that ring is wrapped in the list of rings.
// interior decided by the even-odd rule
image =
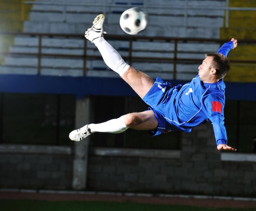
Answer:
[[[12,53],[38,53],[38,37],[16,36],[14,45],[10,48]],[[51,38],[43,37],[41,43],[42,54],[58,54],[60,56],[42,56],[41,74],[42,75],[83,75],[83,42],[81,38]],[[128,41],[108,41],[114,46],[121,56],[128,56],[129,42]],[[174,43],[168,42],[150,42],[137,40],[133,44],[132,55],[134,57],[152,57],[155,62],[132,62],[132,66],[148,73],[150,76],[155,77],[159,73],[164,74],[165,77],[172,78],[173,64],[169,62],[157,62],[157,59],[173,58],[174,56]],[[218,44],[204,44],[204,43],[180,43],[178,44],[178,58],[193,58],[203,59],[204,53],[209,51],[216,51]],[[192,54],[191,54],[192,53]],[[61,55],[74,55],[74,57],[61,57]],[[99,51],[94,44],[88,42],[87,48],[88,56],[99,56]],[[81,56],[81,57],[75,57]],[[191,57],[192,56],[192,57]],[[177,75],[179,79],[186,79],[182,77],[186,73],[188,77],[195,76],[198,71],[198,65],[195,64],[178,64]],[[9,55],[5,57],[5,62],[0,67],[1,73],[9,74],[37,74],[38,57],[36,55]],[[115,74],[108,70],[108,67],[101,58],[87,59],[86,68],[88,75],[93,76],[110,76]],[[55,69],[55,70],[54,70]],[[26,71],[25,71],[26,70]],[[96,71],[95,73],[93,73]],[[100,73],[100,74],[99,74]],[[189,74],[190,73],[190,74]],[[189,75],[188,75],[189,74]],[[117,76],[117,75],[116,75]]]

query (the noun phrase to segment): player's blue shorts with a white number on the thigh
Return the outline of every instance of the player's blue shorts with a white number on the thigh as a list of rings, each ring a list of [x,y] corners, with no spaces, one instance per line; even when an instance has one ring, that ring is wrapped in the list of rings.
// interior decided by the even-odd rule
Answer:
[[[168,101],[168,97],[172,94],[174,87],[177,88],[177,86],[173,86],[170,82],[164,82],[161,78],[157,77],[155,84],[142,98],[142,100],[151,107],[148,110],[153,110],[158,121],[155,130],[148,130],[148,133],[151,136],[159,135],[162,132],[171,132],[173,130],[170,123],[165,119],[164,107]]]

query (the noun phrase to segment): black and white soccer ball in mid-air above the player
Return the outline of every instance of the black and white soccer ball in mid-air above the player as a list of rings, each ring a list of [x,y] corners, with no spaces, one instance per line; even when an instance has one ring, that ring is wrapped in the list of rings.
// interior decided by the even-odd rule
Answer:
[[[138,7],[132,7],[124,11],[120,17],[121,29],[129,35],[137,35],[144,31],[147,26],[147,18],[145,13],[140,11]]]

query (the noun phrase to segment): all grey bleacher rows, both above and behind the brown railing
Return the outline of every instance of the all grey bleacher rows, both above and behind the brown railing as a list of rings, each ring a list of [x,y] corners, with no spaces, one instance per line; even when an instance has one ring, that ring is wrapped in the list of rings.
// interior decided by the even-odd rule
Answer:
[[[208,3],[207,3],[208,2]],[[32,3],[32,2],[27,2]],[[200,9],[201,7],[222,7],[225,0],[36,0],[30,12],[30,20],[24,22],[24,32],[28,33],[68,33],[81,34],[81,37],[43,36],[42,54],[58,56],[41,57],[41,75],[83,75],[83,33],[91,26],[99,13],[105,14],[104,30],[113,35],[126,35],[119,26],[121,11],[132,6],[143,8],[149,17],[149,24],[141,35],[164,37],[202,37],[218,38],[223,23],[223,11]],[[182,7],[186,7],[185,9]],[[197,9],[195,9],[197,8]],[[199,12],[200,11],[200,12]],[[166,25],[166,23],[168,23]],[[107,36],[106,36],[107,39]],[[121,56],[127,57],[129,42],[109,40]],[[38,37],[17,35],[11,53],[38,53]],[[218,50],[216,43],[180,42],[177,46],[178,58],[203,59],[204,53]],[[66,57],[61,55],[74,55]],[[108,70],[100,58],[94,44],[87,42],[87,76],[119,77]],[[154,59],[135,59],[132,66],[148,73],[151,77],[160,76],[172,79],[174,43],[162,40],[137,40],[132,43],[133,57],[152,57]],[[81,57],[79,57],[81,56]],[[162,58],[170,58],[170,61]],[[38,74],[38,58],[32,55],[7,55],[0,66],[0,74]],[[176,79],[191,79],[198,72],[199,64],[177,64]],[[107,70],[107,71],[106,71]]]

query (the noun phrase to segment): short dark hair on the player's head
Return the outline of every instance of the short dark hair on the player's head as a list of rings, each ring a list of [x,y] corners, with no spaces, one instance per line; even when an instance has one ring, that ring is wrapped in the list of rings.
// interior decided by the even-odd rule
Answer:
[[[216,69],[217,79],[224,78],[230,69],[229,59],[221,53],[206,53],[205,57],[213,57],[211,68]]]

